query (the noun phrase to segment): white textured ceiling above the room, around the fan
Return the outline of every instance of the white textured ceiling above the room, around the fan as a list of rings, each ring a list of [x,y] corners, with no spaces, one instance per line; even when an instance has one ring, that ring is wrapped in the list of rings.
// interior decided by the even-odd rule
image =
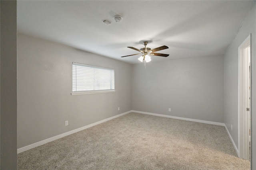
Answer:
[[[152,61],[224,54],[253,1],[80,0],[17,2],[19,33],[127,63],[140,63],[132,46],[169,49]],[[115,22],[113,16],[122,16]],[[111,21],[110,25],[103,23]]]

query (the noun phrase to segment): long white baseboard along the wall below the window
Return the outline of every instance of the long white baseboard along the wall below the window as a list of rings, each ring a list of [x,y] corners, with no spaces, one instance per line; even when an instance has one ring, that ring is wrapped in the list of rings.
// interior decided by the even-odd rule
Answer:
[[[74,129],[74,130],[69,131],[69,132],[66,132],[66,133],[62,133],[62,134],[57,135],[57,136],[55,136],[55,137],[51,137],[51,138],[49,138],[49,139],[45,139],[45,140],[43,140],[43,141],[40,141],[40,142],[31,144],[31,145],[28,145],[28,146],[26,146],[26,147],[22,147],[22,148],[20,148],[20,149],[17,149],[17,153],[19,154],[19,153],[24,152],[24,151],[26,151],[26,150],[29,150],[29,149],[32,149],[32,148],[35,148],[35,147],[39,147],[40,145],[44,145],[45,143],[48,143],[48,142],[54,141],[54,140],[56,140],[56,139],[60,139],[60,138],[62,138],[62,137],[71,135],[71,134],[73,134],[73,133],[82,131],[82,130],[87,129],[87,128],[89,128],[89,127],[98,125],[98,124],[100,124],[100,123],[103,123],[103,122],[105,122],[105,121],[109,121],[109,120],[111,120],[111,119],[114,119],[114,118],[116,118],[116,117],[120,117],[120,116],[122,116],[122,115],[126,115],[126,114],[128,114],[128,113],[130,113],[130,112],[131,112],[131,111],[127,111],[127,112],[125,112],[125,113],[121,113],[121,114],[119,114],[119,115],[115,115],[115,116],[113,116],[113,117],[110,117],[110,118],[107,118],[107,119],[104,119],[104,120],[101,120],[101,121],[92,123],[92,124],[90,124],[90,125],[87,125],[87,126],[84,126],[84,127],[80,127],[80,128],[78,128],[78,129]]]

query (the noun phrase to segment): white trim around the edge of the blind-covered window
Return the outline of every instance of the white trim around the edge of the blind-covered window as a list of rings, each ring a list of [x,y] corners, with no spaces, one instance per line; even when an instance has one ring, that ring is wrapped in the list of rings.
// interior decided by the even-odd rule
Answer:
[[[102,68],[102,69],[108,69],[108,70],[114,70],[113,68],[106,68],[106,67],[100,67],[100,66],[94,66],[94,65],[89,65],[89,64],[82,64],[82,63],[76,63],[76,62],[72,62],[72,82],[73,82],[73,65],[74,64],[78,64],[81,66],[88,66],[88,67],[93,67],[93,68]],[[115,74],[114,74],[114,84],[115,84]],[[88,91],[76,91],[73,92],[73,84],[72,84],[72,93],[71,95],[81,95],[81,94],[97,94],[97,93],[109,93],[109,92],[116,92],[115,89],[104,89],[104,90],[88,90]]]

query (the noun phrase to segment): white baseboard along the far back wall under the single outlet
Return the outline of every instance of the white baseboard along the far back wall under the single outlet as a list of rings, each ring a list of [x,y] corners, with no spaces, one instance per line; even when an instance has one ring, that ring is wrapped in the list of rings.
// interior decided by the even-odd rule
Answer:
[[[142,113],[142,114],[147,114],[147,115],[154,115],[154,116],[161,116],[161,117],[169,117],[169,118],[172,118],[172,119],[181,119],[181,120],[187,120],[187,121],[195,121],[195,122],[207,123],[207,124],[211,124],[211,125],[225,126],[225,123],[219,123],[219,122],[214,122],[214,121],[189,119],[189,118],[184,118],[184,117],[176,117],[176,116],[170,116],[170,115],[161,115],[161,114],[149,113],[149,112],[144,112],[144,111],[136,111],[136,110],[132,110],[132,112]]]

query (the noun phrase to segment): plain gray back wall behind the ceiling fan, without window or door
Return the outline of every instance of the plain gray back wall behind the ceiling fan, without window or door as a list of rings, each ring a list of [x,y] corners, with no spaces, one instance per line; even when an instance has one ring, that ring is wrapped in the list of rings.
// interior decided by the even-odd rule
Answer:
[[[224,123],[223,55],[134,64],[132,109]],[[171,112],[168,111],[171,108]]]

